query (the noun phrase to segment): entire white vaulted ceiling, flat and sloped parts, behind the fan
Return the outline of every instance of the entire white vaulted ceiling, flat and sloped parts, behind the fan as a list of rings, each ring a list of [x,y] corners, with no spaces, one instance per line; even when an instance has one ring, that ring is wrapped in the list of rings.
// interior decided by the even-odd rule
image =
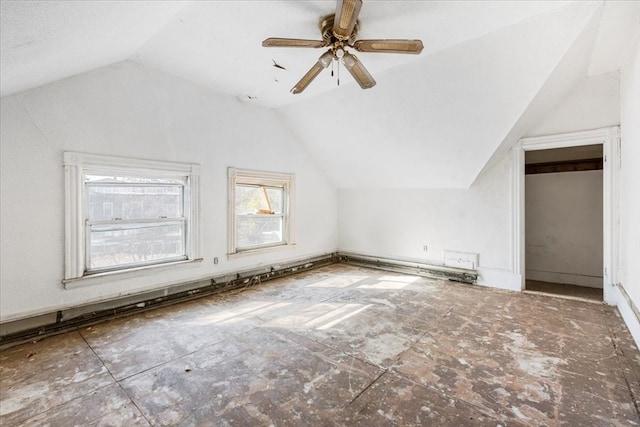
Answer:
[[[325,70],[335,1],[2,1],[2,96],[129,60],[274,108],[338,187],[465,188],[588,75],[615,71],[637,1],[364,1],[358,38],[410,38],[422,54],[357,53],[378,84]],[[274,63],[282,66],[278,68]]]

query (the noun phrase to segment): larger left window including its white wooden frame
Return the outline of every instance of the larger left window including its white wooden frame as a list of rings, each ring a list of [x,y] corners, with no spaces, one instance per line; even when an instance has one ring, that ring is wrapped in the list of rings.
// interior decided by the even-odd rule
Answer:
[[[198,166],[65,153],[65,279],[194,260]]]

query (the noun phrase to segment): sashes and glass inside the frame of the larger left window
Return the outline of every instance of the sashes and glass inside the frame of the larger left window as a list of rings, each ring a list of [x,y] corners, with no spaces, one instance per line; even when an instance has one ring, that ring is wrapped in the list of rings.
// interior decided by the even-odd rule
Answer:
[[[84,181],[88,273],[186,259],[186,178]]]

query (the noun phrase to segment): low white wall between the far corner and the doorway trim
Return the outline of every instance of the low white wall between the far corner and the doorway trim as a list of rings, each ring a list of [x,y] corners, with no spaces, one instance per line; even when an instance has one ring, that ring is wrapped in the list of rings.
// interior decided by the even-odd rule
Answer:
[[[511,288],[510,181],[505,157],[465,190],[340,189],[339,248],[436,263],[445,249],[474,252],[479,283]]]

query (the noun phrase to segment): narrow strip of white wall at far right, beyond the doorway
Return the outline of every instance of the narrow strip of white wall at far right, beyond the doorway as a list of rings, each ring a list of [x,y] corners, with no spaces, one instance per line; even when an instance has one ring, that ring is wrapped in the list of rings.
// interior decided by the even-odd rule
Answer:
[[[640,17],[638,18],[640,19]],[[640,26],[639,26],[640,27]],[[640,28],[620,72],[620,268],[618,280],[640,309]],[[640,319],[618,302],[640,346]]]

